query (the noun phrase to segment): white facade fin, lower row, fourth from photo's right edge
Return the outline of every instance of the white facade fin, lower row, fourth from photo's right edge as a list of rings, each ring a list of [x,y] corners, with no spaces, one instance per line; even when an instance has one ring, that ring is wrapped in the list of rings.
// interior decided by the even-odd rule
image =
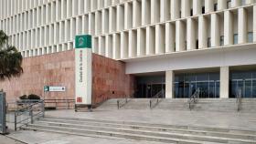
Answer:
[[[211,46],[220,46],[220,27],[219,27],[219,15],[212,14],[211,15]]]

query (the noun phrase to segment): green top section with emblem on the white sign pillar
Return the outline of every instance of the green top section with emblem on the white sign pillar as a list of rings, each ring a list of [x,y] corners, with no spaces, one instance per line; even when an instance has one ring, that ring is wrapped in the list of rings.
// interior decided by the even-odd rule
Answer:
[[[75,48],[91,48],[91,35],[76,36]]]

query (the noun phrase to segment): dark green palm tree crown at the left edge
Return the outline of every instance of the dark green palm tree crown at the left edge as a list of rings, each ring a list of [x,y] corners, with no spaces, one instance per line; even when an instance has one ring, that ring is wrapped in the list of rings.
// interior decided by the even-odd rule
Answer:
[[[0,30],[0,81],[19,77],[23,73],[22,56],[15,46],[9,46],[8,36]]]

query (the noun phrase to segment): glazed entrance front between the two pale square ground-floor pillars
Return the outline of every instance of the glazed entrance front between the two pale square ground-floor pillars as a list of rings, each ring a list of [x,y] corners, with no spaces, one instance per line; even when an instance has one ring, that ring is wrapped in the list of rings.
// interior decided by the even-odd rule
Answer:
[[[200,88],[200,98],[219,98],[219,73],[176,75],[175,97],[190,98]]]

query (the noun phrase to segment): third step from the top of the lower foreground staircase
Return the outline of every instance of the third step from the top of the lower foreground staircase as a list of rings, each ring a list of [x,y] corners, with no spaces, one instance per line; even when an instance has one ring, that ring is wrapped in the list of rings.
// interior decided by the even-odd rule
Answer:
[[[161,139],[183,139],[183,140],[197,140],[197,141],[210,141],[210,142],[219,142],[219,143],[229,143],[231,141],[240,142],[240,143],[255,143],[255,140],[248,140],[248,139],[226,139],[226,138],[218,138],[218,137],[210,137],[210,136],[195,136],[191,134],[177,134],[177,133],[167,133],[167,132],[151,132],[146,130],[119,130],[119,131],[112,131],[112,129],[82,129],[82,128],[67,128],[67,127],[58,127],[58,126],[45,126],[45,125],[37,125],[31,124],[29,125],[30,128],[39,128],[39,129],[56,129],[62,131],[69,131],[69,132],[82,132],[82,133],[89,133],[89,134],[98,134],[103,136],[112,136],[112,137],[121,137],[128,138],[133,137],[155,137]],[[171,141],[175,142],[175,141]]]

